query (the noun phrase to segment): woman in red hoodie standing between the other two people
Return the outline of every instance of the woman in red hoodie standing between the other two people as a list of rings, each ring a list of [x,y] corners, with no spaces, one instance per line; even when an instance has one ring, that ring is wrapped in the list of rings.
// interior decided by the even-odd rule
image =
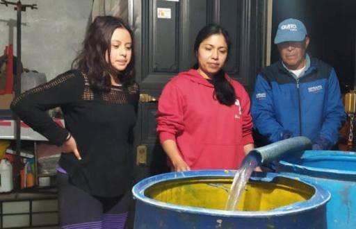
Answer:
[[[163,89],[157,133],[175,171],[238,169],[254,147],[248,93],[222,69],[230,46],[224,28],[205,26],[195,39],[197,64]]]

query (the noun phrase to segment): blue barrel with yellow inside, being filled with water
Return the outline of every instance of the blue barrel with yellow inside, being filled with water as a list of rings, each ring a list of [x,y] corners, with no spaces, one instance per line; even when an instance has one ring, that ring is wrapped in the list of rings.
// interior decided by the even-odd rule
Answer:
[[[133,187],[136,198],[134,228],[326,228],[325,206],[330,193],[303,178],[276,173],[254,173],[239,203],[245,210],[223,210],[222,199],[227,199],[235,173],[185,171],[141,180]],[[273,192],[277,198],[266,199]],[[294,201],[284,198],[289,194]],[[264,206],[260,207],[259,202]],[[266,207],[270,209],[259,210]]]

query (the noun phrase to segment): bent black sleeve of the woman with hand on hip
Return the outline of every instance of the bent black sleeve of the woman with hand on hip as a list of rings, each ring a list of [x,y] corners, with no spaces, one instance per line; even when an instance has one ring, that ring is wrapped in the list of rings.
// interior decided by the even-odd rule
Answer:
[[[67,138],[68,130],[58,126],[49,117],[47,110],[66,108],[79,98],[83,85],[83,77],[68,71],[48,83],[24,92],[11,103],[10,108],[33,130],[47,137],[49,142],[60,146]]]

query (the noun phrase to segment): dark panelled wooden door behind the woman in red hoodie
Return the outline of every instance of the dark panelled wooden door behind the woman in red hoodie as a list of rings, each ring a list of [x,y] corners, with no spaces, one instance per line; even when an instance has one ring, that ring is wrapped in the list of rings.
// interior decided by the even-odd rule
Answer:
[[[157,100],[165,83],[195,63],[197,32],[216,22],[229,32],[232,53],[225,69],[250,92],[264,65],[266,1],[131,0],[129,22],[135,29],[136,80],[140,84],[136,126],[136,178],[168,171],[156,137]]]

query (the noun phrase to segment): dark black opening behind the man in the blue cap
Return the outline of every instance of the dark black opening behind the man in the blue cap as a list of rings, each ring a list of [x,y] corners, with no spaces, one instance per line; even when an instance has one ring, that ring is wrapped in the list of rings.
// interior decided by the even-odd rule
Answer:
[[[300,19],[310,37],[308,52],[334,67],[344,93],[355,85],[356,1],[274,0],[272,42],[277,26],[289,17]],[[279,59],[272,44],[271,62]]]

